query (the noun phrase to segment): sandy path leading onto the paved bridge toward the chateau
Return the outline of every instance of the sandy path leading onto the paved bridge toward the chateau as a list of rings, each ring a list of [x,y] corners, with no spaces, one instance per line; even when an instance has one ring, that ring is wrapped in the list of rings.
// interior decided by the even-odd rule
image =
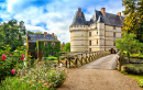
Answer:
[[[134,79],[109,70],[116,69],[113,59],[116,55],[109,55],[80,68],[68,69],[66,81],[57,90],[142,90]]]

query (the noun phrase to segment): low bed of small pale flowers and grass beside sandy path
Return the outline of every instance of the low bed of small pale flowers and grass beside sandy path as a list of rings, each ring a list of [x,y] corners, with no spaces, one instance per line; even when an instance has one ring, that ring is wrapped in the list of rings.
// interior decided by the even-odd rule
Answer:
[[[2,81],[2,90],[48,90],[59,87],[65,78],[65,68],[53,69],[48,63],[38,63],[35,67],[18,71],[15,77],[7,77]]]

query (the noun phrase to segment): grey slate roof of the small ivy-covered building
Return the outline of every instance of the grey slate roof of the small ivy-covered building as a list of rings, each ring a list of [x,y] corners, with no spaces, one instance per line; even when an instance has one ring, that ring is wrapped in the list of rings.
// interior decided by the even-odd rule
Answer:
[[[28,40],[29,43],[36,43],[36,41],[56,41],[58,42],[58,40],[56,40],[55,37],[52,37],[51,34],[47,34],[44,36],[44,34],[28,34]]]

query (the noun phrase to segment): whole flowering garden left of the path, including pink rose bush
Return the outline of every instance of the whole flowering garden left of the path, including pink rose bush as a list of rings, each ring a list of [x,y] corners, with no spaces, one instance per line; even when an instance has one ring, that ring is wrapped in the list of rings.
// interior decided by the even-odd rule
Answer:
[[[7,45],[0,50],[0,90],[53,90],[64,82],[64,67],[54,67],[51,58],[41,61],[31,59],[31,56],[25,56],[24,49],[21,46],[11,52]]]

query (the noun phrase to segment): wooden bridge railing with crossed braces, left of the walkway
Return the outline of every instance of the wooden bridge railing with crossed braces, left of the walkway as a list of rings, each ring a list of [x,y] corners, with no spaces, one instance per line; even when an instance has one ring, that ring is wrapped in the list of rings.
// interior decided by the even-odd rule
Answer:
[[[68,55],[58,58],[58,64],[63,64],[66,68],[80,67],[102,56],[109,55],[109,52],[91,52],[77,55]],[[61,60],[63,58],[64,60]]]

